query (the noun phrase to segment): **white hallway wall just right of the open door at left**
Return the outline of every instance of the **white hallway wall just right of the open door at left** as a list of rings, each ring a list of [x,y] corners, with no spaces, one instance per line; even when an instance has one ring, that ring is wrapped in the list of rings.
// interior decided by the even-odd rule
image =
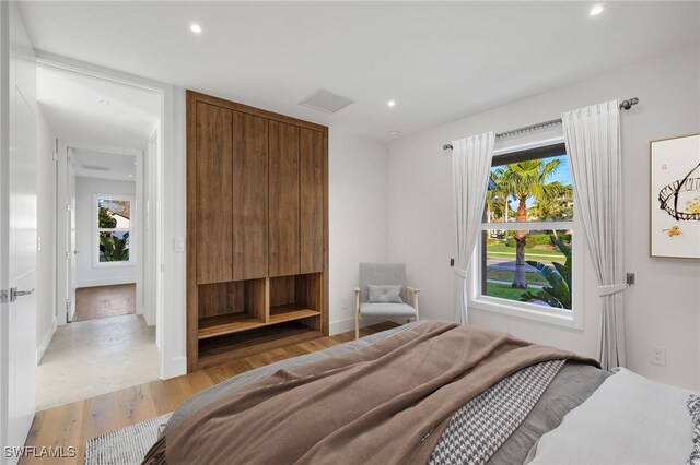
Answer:
[[[36,360],[56,331],[56,135],[44,114],[37,118]]]

